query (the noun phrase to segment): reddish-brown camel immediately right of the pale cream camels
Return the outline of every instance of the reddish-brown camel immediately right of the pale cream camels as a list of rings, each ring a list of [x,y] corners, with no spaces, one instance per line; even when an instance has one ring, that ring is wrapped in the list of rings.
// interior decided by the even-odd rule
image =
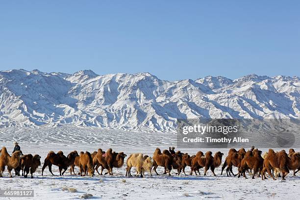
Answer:
[[[153,153],[153,170],[156,172],[156,168],[158,166],[165,167],[166,171],[169,175],[171,175],[172,170],[172,162],[173,162],[173,156],[171,155],[169,150],[163,150],[163,153],[161,153],[161,150],[159,148],[156,148],[156,150]]]

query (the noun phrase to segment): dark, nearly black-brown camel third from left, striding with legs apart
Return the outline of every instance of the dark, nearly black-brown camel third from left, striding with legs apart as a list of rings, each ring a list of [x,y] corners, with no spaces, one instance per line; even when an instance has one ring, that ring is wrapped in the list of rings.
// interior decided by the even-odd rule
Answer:
[[[45,158],[44,165],[42,168],[42,175],[47,166],[49,167],[50,173],[54,175],[52,173],[52,165],[58,166],[59,175],[64,175],[68,167],[74,164],[76,156],[78,156],[77,151],[72,151],[71,153],[68,154],[67,157],[64,155],[64,153],[61,150],[58,151],[57,154],[54,153],[54,151],[50,151],[47,157]],[[62,170],[64,171],[62,172]]]

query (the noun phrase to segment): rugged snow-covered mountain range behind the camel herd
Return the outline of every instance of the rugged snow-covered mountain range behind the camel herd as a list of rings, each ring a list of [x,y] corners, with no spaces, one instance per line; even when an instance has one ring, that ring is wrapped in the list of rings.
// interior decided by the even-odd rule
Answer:
[[[0,71],[0,127],[75,124],[174,131],[184,118],[300,119],[300,78],[166,81],[149,73]]]

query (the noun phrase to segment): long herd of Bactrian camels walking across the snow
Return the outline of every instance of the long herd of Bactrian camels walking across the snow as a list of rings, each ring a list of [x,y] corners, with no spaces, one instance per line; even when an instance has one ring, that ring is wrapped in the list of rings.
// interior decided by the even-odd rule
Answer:
[[[31,178],[33,178],[33,173],[36,171],[38,166],[41,165],[41,156],[27,154],[23,155],[22,151],[15,151],[12,156],[10,156],[5,147],[0,150],[0,177],[3,175],[5,166],[7,166],[8,173],[10,177],[11,171],[14,169],[16,175],[20,175],[22,170],[22,175],[27,177],[29,171]],[[220,151],[216,152],[215,155],[212,155],[211,151],[207,151],[205,154],[201,151],[198,151],[196,155],[189,155],[188,153],[182,153],[177,151],[171,154],[171,150],[161,150],[157,148],[153,156],[144,155],[143,153],[133,153],[126,160],[126,176],[131,175],[131,168],[136,169],[135,176],[145,176],[145,172],[151,174],[151,170],[158,175],[156,169],[158,166],[164,167],[164,174],[171,175],[171,170],[176,170],[176,175],[179,175],[181,172],[185,174],[185,168],[189,166],[191,168],[190,175],[195,173],[195,175],[200,175],[199,170],[204,168],[204,175],[206,175],[207,170],[211,170],[213,175],[215,174],[215,168],[218,168],[222,164],[222,156],[224,154]],[[121,168],[124,165],[126,154],[124,152],[115,152],[112,149],[108,149],[106,152],[99,149],[94,151],[92,154],[88,151],[81,151],[79,154],[77,151],[70,152],[67,156],[63,154],[62,151],[55,153],[50,151],[45,158],[44,165],[42,167],[42,175],[45,168],[48,166],[50,173],[53,175],[51,166],[56,165],[59,168],[59,174],[64,175],[68,167],[70,167],[70,173],[74,173],[74,168],[77,166],[79,168],[79,174],[84,175],[94,175],[96,170],[99,175],[102,175],[104,169],[107,170],[104,175],[109,174],[113,175],[113,168]],[[230,149],[227,157],[225,158],[224,164],[222,166],[223,174],[224,169],[226,168],[227,176],[231,174],[236,176],[232,172],[232,168],[238,168],[238,177],[243,175],[245,178],[246,172],[252,175],[254,178],[261,176],[264,180],[266,179],[266,172],[275,180],[275,177],[282,177],[285,179],[285,176],[289,171],[294,172],[294,176],[300,170],[300,152],[295,152],[294,149],[290,149],[287,154],[285,150],[275,152],[270,149],[262,156],[262,151],[254,149],[252,147],[246,152],[244,148],[240,150]],[[98,168],[101,167],[101,173],[99,173]],[[185,174],[186,175],[186,174]],[[275,176],[275,177],[274,177]]]

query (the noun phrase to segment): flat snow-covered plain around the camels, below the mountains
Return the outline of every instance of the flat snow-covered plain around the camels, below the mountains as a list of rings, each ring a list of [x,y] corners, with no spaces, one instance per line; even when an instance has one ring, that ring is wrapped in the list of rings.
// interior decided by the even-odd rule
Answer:
[[[102,130],[98,128],[78,128],[74,126],[43,127],[43,128],[1,128],[0,145],[13,149],[13,141],[18,141],[24,154],[38,153],[43,161],[49,150],[63,150],[68,154],[72,150],[93,152],[98,148],[124,151],[127,157],[133,152],[143,152],[152,156],[156,147],[166,149],[175,146],[176,136],[169,133],[137,133],[117,130]],[[249,149],[250,147],[245,147]],[[195,154],[198,149],[180,149],[182,152]],[[207,149],[199,149],[203,152]],[[228,149],[218,150],[227,154]],[[265,149],[263,151],[266,151]],[[299,151],[299,150],[297,150]],[[162,174],[163,169],[158,168]],[[236,169],[234,169],[236,172]],[[75,169],[75,172],[78,169]],[[134,170],[132,169],[132,172]],[[186,172],[190,172],[189,167]],[[221,200],[293,200],[299,199],[300,174],[297,177],[287,176],[287,180],[262,181],[260,178],[244,179],[220,176],[221,168],[216,170],[217,176],[210,171],[207,176],[190,175],[154,175],[146,178],[125,177],[125,166],[114,168],[114,176],[80,177],[70,175],[57,176],[58,168],[53,167],[50,175],[48,168],[41,176],[41,167],[34,174],[34,179],[24,177],[9,178],[5,170],[0,178],[0,189],[34,189],[34,198],[41,199],[80,199],[84,194],[93,195],[91,199],[221,199]],[[14,173],[13,173],[14,174]],[[133,174],[133,173],[132,173]],[[76,191],[74,192],[74,189]],[[69,191],[70,190],[70,191]],[[0,198],[5,199],[5,198]],[[8,198],[7,198],[8,199]],[[13,198],[12,198],[13,199]],[[23,198],[25,199],[25,198]],[[27,198],[26,198],[27,199]]]

